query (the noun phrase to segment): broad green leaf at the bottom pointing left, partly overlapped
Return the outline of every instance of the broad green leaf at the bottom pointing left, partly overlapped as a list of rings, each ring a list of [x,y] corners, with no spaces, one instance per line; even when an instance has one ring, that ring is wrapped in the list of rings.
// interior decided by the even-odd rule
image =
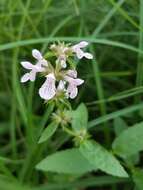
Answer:
[[[90,164],[77,148],[59,151],[47,156],[36,168],[64,174],[81,174],[96,170],[96,167]]]

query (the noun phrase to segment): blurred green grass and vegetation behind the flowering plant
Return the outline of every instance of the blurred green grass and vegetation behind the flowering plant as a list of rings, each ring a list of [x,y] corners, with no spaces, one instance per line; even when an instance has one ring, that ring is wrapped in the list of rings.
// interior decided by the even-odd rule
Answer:
[[[39,98],[37,82],[20,84],[20,61],[30,60],[33,48],[45,53],[51,42],[81,40],[91,42],[95,59],[78,64],[86,82],[72,105],[88,106],[92,136],[110,148],[117,130],[143,120],[143,0],[0,0],[1,190],[134,189],[132,177],[35,170],[45,155],[72,141],[59,131],[46,149],[37,145],[50,107]],[[136,163],[142,167],[142,154]]]

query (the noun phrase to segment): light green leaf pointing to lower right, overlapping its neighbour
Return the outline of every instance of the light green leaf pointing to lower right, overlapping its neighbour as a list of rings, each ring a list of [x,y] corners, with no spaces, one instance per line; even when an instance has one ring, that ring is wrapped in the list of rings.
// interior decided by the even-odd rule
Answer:
[[[120,162],[97,142],[84,141],[80,151],[96,168],[113,176],[128,177]]]

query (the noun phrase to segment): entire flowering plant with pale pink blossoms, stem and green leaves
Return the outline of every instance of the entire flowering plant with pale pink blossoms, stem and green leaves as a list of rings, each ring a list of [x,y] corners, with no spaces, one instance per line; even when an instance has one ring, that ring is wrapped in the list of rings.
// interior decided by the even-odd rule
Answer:
[[[21,62],[21,65],[28,70],[22,76],[21,82],[35,81],[37,75],[44,77],[45,81],[39,88],[39,96],[47,104],[54,106],[51,123],[43,130],[38,143],[48,140],[60,126],[73,136],[77,147],[48,156],[37,165],[37,169],[74,174],[100,169],[111,175],[127,177],[128,174],[116,157],[91,140],[87,132],[86,106],[80,104],[76,110],[72,110],[69,101],[76,98],[78,88],[84,83],[84,80],[78,78],[75,57],[93,59],[91,53],[83,50],[87,45],[86,41],[76,45],[52,44],[45,56],[36,49],[32,51],[36,64],[28,61]]]

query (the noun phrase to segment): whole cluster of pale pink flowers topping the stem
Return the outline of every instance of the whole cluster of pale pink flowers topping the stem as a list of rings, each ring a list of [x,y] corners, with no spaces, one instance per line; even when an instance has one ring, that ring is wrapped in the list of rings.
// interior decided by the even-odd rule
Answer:
[[[37,49],[32,50],[32,56],[36,59],[36,64],[33,65],[29,61],[21,62],[21,65],[29,70],[22,76],[21,82],[35,81],[37,73],[41,73],[46,78],[39,89],[41,98],[48,101],[63,95],[66,98],[74,99],[78,94],[77,87],[83,84],[84,80],[77,78],[77,71],[71,58],[76,55],[78,59],[83,57],[92,59],[93,55],[84,52],[82,49],[87,45],[88,42],[85,41],[73,46],[64,43],[52,44],[50,46],[50,61],[47,61]]]

